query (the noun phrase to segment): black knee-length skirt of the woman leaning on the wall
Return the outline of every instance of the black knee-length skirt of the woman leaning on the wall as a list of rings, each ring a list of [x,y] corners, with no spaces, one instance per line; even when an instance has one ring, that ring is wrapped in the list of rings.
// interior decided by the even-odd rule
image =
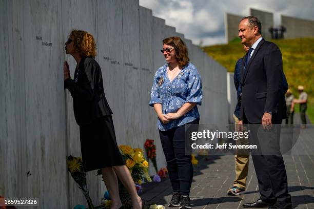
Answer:
[[[116,143],[111,115],[80,126],[81,151],[85,172],[125,165]]]

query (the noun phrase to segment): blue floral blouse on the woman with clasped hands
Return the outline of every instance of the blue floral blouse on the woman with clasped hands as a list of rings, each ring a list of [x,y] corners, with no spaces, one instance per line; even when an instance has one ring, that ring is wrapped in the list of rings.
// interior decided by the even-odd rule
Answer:
[[[163,114],[167,114],[177,112],[185,102],[201,105],[202,82],[197,68],[189,62],[171,82],[167,75],[167,68],[168,64],[160,67],[155,73],[149,106],[153,107],[154,103],[161,103]],[[195,105],[188,113],[176,120],[170,120],[167,124],[163,124],[158,118],[158,128],[166,131],[197,118],[200,118],[200,114]]]

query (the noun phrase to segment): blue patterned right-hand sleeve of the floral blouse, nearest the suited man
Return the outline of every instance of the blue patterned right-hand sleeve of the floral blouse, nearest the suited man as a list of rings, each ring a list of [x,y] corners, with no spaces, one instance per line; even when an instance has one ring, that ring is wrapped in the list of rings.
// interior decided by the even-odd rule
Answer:
[[[188,91],[185,102],[195,102],[197,105],[201,105],[202,97],[201,76],[196,68],[192,68],[189,74]]]

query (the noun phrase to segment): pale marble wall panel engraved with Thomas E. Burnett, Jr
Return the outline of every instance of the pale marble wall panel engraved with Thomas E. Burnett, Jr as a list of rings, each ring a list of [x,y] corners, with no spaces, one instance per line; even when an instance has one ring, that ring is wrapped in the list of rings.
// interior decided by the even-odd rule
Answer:
[[[122,2],[97,1],[98,57],[118,144],[126,143]]]

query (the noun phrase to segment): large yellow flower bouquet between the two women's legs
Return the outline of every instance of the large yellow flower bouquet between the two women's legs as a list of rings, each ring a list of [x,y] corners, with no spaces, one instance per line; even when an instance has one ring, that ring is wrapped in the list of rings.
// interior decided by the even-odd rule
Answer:
[[[143,156],[143,150],[140,148],[133,149],[129,145],[120,145],[119,149],[134,182],[141,182],[144,179],[143,176],[145,176],[147,181],[151,182],[148,175],[149,164]]]

